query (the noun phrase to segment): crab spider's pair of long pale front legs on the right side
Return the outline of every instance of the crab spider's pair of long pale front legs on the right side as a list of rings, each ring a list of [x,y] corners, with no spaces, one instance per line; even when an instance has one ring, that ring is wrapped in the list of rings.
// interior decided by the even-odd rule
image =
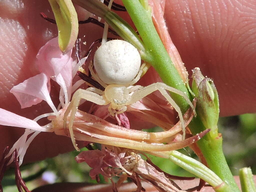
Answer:
[[[179,115],[179,119],[180,119],[180,124],[181,124],[182,130],[183,130],[182,138],[185,139],[185,124],[184,124],[184,119],[183,119],[183,116],[182,116],[182,112],[181,112],[179,106],[170,97],[170,95],[168,94],[168,92],[166,90],[174,92],[174,93],[179,94],[182,97],[184,97],[186,99],[186,101],[188,102],[188,104],[191,106],[191,108],[194,110],[194,113],[195,113],[195,108],[194,108],[193,104],[191,103],[191,101],[189,100],[187,95],[185,93],[183,93],[182,91],[179,91],[179,90],[177,90],[173,87],[169,87],[164,83],[158,82],[158,83],[151,84],[147,87],[144,87],[142,89],[135,90],[134,93],[131,95],[131,100],[126,105],[130,105],[132,103],[135,103],[138,100],[146,97],[147,95],[149,95],[150,93],[152,93],[156,90],[158,90],[167,99],[167,101],[174,107],[174,109],[177,111],[177,113]]]

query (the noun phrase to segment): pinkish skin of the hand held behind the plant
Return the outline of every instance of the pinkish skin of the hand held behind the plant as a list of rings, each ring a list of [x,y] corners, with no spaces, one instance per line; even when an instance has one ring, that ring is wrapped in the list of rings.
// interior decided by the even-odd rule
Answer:
[[[212,78],[220,98],[220,115],[256,112],[256,5],[254,1],[168,0],[165,19],[170,36],[185,66],[200,67]],[[53,18],[47,1],[0,1],[0,108],[34,119],[50,112],[46,102],[30,108],[20,105],[9,90],[39,73],[36,54],[52,37],[57,27],[39,16]],[[124,14],[122,14],[124,15]],[[102,35],[93,24],[80,25],[79,34],[87,46]],[[83,47],[86,50],[86,46]],[[58,86],[51,89],[58,104]],[[24,132],[1,126],[0,154]],[[33,162],[73,150],[70,138],[40,133],[31,143],[24,162]]]

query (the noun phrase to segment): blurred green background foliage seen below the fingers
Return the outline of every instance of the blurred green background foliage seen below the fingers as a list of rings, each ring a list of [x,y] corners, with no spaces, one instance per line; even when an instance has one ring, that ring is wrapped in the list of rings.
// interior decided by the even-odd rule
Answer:
[[[256,174],[256,114],[220,118],[218,128],[219,132],[223,134],[223,151],[233,175],[238,175],[238,170],[242,167],[251,167],[252,173]],[[161,128],[156,127],[147,131],[160,130]],[[87,149],[83,148],[82,150]],[[197,158],[189,148],[179,151]],[[33,190],[36,187],[55,182],[96,183],[89,177],[90,167],[86,163],[76,163],[74,160],[76,155],[78,152],[73,151],[44,161],[22,165],[20,169],[28,188]],[[150,157],[154,164],[169,174],[193,176],[168,159]],[[101,178],[101,182],[104,182],[103,178]],[[2,185],[4,192],[18,191],[13,168],[6,171]]]

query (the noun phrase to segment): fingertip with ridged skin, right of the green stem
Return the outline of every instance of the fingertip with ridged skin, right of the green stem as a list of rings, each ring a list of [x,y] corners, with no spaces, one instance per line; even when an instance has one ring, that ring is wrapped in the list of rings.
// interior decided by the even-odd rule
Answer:
[[[190,73],[214,80],[220,115],[256,112],[256,4],[167,0],[169,34]]]

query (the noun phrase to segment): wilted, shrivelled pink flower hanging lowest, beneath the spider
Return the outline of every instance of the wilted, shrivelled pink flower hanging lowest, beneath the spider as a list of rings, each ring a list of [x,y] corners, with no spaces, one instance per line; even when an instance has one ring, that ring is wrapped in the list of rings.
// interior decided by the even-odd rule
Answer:
[[[89,174],[92,179],[96,179],[98,174],[102,174],[105,180],[118,176],[120,177],[118,185],[120,185],[127,177],[130,177],[137,185],[137,191],[141,191],[141,180],[145,180],[159,191],[181,192],[183,190],[169,178],[194,179],[169,175],[156,167],[150,159],[145,161],[135,151],[125,148],[103,145],[101,151],[83,151],[75,159],[77,163],[86,162],[92,168]]]

